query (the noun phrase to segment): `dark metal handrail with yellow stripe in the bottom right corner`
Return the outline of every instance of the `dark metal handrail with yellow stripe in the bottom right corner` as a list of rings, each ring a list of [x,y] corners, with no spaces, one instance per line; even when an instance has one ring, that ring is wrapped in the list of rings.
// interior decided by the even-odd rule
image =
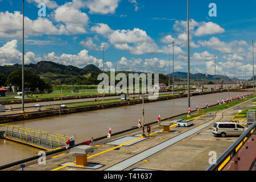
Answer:
[[[237,154],[238,150],[245,144],[250,135],[256,131],[254,122],[237,140],[234,142],[218,159],[211,164],[205,171],[221,171],[226,164]]]

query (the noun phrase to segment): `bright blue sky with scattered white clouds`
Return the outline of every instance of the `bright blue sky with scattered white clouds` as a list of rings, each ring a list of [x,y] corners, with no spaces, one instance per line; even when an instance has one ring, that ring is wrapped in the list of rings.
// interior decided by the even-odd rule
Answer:
[[[39,3],[46,17],[38,16]],[[217,16],[210,17],[210,3]],[[237,76],[252,74],[252,44],[256,38],[256,1],[191,0],[191,71]],[[25,63],[40,60],[106,69],[187,72],[187,1],[145,0],[25,0]],[[256,48],[255,48],[256,49]],[[254,52],[255,52],[254,49]],[[255,52],[256,53],[256,52]],[[21,63],[22,0],[0,0],[0,65]],[[196,69],[197,67],[197,69]]]

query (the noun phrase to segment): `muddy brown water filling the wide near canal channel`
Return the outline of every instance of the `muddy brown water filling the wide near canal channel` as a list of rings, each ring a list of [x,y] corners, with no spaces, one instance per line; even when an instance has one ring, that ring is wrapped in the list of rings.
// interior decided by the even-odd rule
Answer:
[[[229,97],[237,97],[242,94],[245,93],[229,92]],[[199,108],[205,107],[206,103],[208,103],[208,105],[217,104],[217,101],[221,101],[222,99],[226,100],[226,98],[228,98],[228,93],[226,92],[193,96],[191,97],[191,110],[195,110],[196,106],[199,106]],[[187,98],[146,103],[144,104],[144,122],[149,123],[156,120],[159,114],[161,118],[166,118],[184,113],[187,111],[187,104]],[[130,129],[138,125],[138,119],[142,121],[142,104],[31,119],[10,124],[48,131],[53,134],[68,135],[69,137],[76,135],[76,143],[80,143],[85,140],[90,140],[92,137],[98,138],[106,136],[109,127],[112,129],[112,133]],[[0,166],[15,162],[16,160],[26,159],[40,151],[33,147],[3,139],[0,139],[0,149]]]

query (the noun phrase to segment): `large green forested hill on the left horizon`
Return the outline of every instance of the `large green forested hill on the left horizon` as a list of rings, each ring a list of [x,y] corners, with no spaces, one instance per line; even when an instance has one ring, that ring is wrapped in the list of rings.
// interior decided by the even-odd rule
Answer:
[[[0,66],[0,73],[9,76],[11,72],[22,69],[22,65],[5,65]],[[86,65],[84,68],[77,68],[72,65],[63,65],[52,61],[40,61],[36,64],[24,65],[24,69],[30,73],[35,73],[40,77],[73,77],[86,75],[92,71],[100,71],[93,64]]]

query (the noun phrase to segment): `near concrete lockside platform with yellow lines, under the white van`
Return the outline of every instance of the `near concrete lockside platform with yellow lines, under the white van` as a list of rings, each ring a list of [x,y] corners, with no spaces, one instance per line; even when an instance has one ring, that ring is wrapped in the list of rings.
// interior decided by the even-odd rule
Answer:
[[[88,155],[88,163],[102,165],[97,169],[76,168],[75,155],[69,150],[63,154],[47,156],[46,165],[39,165],[37,160],[25,163],[25,171],[102,171],[118,170],[156,170],[156,171],[204,171],[210,164],[210,151],[220,156],[238,137],[219,138],[210,135],[212,126],[217,121],[230,121],[240,107],[251,105],[251,102],[239,104],[226,110],[213,111],[195,118],[191,127],[170,126],[170,133],[159,132],[162,127],[151,126],[150,137],[140,140],[137,136],[142,129],[124,133],[109,139],[102,139],[94,145],[94,151]],[[214,115],[214,117],[209,117]],[[175,132],[174,132],[175,131]],[[124,140],[125,139],[125,140]],[[130,141],[129,141],[130,140]],[[134,140],[140,140],[137,143]],[[118,146],[113,146],[113,142]],[[129,143],[133,143],[128,145]],[[139,158],[137,158],[139,156]],[[136,159],[135,159],[136,158]],[[135,159],[135,160],[134,160]],[[6,170],[21,170],[19,165]]]

